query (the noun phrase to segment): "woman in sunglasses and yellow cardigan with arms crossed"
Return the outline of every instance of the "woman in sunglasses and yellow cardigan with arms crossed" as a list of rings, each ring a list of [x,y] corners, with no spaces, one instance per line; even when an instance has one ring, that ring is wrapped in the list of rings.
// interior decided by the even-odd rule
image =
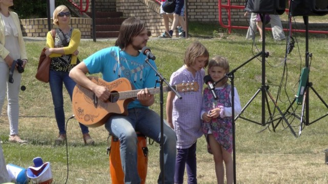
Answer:
[[[55,36],[52,31],[47,34],[46,55],[51,58],[49,84],[54,104],[55,118],[59,135],[55,143],[61,144],[66,139],[65,112],[63,100],[63,83],[72,100],[75,82],[69,77],[70,70],[77,64],[78,45],[81,32],[70,27],[71,14],[65,5],[56,7],[53,12],[53,24],[57,25]],[[87,126],[79,123],[86,145],[94,145]]]

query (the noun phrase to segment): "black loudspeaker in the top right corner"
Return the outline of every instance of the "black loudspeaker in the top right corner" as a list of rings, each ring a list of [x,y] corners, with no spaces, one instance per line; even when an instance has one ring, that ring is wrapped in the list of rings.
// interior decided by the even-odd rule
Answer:
[[[323,16],[328,13],[328,0],[293,0],[290,6],[292,16]]]

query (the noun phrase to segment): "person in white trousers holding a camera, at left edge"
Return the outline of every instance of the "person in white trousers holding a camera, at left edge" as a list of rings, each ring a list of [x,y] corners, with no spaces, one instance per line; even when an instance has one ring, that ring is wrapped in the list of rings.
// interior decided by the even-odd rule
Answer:
[[[26,141],[21,140],[18,136],[18,95],[22,74],[16,68],[13,73],[9,73],[11,67],[18,66],[14,61],[21,59],[22,62],[19,63],[22,64],[23,68],[27,63],[25,43],[22,30],[20,30],[18,15],[9,9],[13,5],[13,1],[10,0],[0,1],[0,113],[7,94],[9,142],[25,143]],[[11,82],[8,80],[9,77],[12,79]]]

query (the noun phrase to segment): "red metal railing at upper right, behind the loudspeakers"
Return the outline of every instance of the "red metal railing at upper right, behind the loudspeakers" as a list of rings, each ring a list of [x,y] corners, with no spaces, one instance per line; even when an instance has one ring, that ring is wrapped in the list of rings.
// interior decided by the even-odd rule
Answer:
[[[244,9],[244,6],[237,6],[237,5],[231,5],[230,0],[227,1],[226,5],[222,5],[221,0],[219,0],[218,3],[218,9],[219,9],[219,23],[223,28],[227,28],[228,32],[231,33],[231,29],[248,29],[247,26],[232,26],[231,24],[231,9]],[[228,25],[224,25],[222,21],[222,9],[226,9],[228,12]],[[285,10],[286,13],[289,12],[288,9]],[[265,28],[265,30],[271,30],[271,28]],[[283,31],[288,31],[288,29],[283,29]],[[292,32],[300,32],[305,33],[305,30],[298,30],[291,28]],[[317,33],[317,34],[328,34],[328,31],[316,31],[316,30],[309,30],[309,33]]]

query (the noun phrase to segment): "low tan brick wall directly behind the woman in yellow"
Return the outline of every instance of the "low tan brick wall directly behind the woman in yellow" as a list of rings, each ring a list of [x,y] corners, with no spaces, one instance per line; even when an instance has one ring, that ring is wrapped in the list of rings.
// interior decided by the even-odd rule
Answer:
[[[22,25],[23,36],[28,37],[46,37],[48,33],[48,19],[20,19]],[[72,28],[81,31],[81,38],[91,38],[91,18],[71,18],[70,24]],[[51,20],[52,24],[52,20]],[[52,25],[54,28],[55,25]]]

